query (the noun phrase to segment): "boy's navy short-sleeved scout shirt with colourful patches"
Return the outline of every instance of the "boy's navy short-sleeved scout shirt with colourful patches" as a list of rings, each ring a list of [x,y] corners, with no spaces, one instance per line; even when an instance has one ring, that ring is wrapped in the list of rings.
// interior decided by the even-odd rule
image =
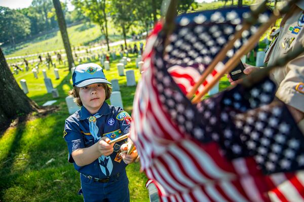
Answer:
[[[96,125],[99,129],[98,136],[106,136],[110,140],[113,140],[129,132],[132,119],[121,107],[108,105],[104,102],[97,113],[101,115],[101,117],[97,118],[96,121]],[[75,170],[87,176],[104,179],[108,176],[105,176],[101,172],[98,159],[89,165],[80,167],[75,164],[71,155],[74,150],[90,147],[95,143],[94,138],[90,133],[88,120],[88,117],[92,115],[94,114],[91,114],[84,106],[74,114],[70,115],[65,120],[63,137],[67,143],[69,152],[68,161],[74,164]],[[119,153],[121,152],[120,147],[125,142],[126,140],[122,140],[115,143],[113,146],[114,151],[110,155],[113,163],[113,170],[110,176],[120,173],[125,170],[125,167],[127,166],[119,156]]]

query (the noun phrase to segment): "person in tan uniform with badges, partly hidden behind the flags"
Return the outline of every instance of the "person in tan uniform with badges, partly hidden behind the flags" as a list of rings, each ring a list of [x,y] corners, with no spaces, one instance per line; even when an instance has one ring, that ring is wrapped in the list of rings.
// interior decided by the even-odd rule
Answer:
[[[292,6],[280,24],[280,28],[272,33],[273,40],[266,52],[264,63],[273,64],[279,58],[297,46],[304,46],[304,0]],[[254,67],[244,64],[245,74],[251,73]],[[278,86],[276,97],[287,104],[290,112],[304,133],[304,53],[289,61],[284,67],[276,68],[270,73]],[[233,81],[228,74],[232,85]]]

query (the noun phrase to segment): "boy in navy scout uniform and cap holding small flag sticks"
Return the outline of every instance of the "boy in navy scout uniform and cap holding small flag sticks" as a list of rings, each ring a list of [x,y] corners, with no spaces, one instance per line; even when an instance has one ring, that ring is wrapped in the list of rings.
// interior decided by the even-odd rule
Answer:
[[[84,201],[129,201],[127,164],[137,157],[121,153],[124,140],[108,144],[129,132],[132,118],[121,107],[108,105],[111,85],[102,68],[94,63],[82,64],[72,75],[70,95],[80,110],[65,120],[64,140],[68,161],[80,172]]]

